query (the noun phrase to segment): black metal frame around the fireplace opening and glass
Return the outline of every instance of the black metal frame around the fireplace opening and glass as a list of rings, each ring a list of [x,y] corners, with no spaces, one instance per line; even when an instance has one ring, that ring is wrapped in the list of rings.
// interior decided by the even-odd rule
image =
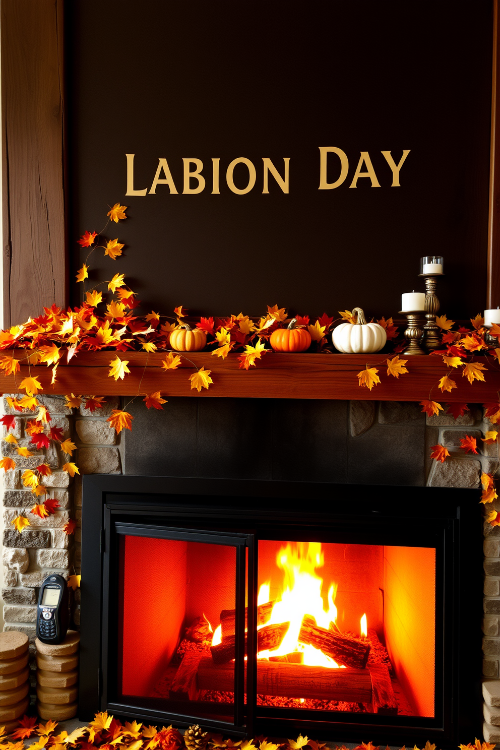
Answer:
[[[418,745],[430,739],[442,748],[481,736],[482,591],[478,584],[482,574],[482,517],[478,499],[478,490],[437,487],[85,475],[79,718],[88,720],[97,710],[109,710],[115,715],[153,723],[168,721],[179,726],[195,723],[185,715],[138,709],[106,697],[109,679],[114,679],[109,674],[112,662],[107,651],[113,634],[107,628],[108,622],[111,627],[114,622],[112,616],[109,619],[108,602],[114,585],[112,529],[116,523],[118,526],[160,523],[187,529],[195,535],[197,530],[247,533],[249,604],[251,594],[254,605],[256,554],[252,553],[252,544],[262,529],[274,529],[272,538],[280,538],[277,534],[285,525],[283,539],[301,538],[302,534],[304,539],[318,541],[331,540],[334,529],[342,534],[343,540],[358,543],[365,534],[365,543],[371,544],[384,542],[373,540],[373,536],[369,538],[368,532],[373,534],[378,529],[379,537],[387,539],[388,534],[393,534],[391,538],[395,540],[399,531],[399,544],[410,546],[419,546],[418,540],[428,538],[433,529],[436,539],[442,538],[442,544],[436,543],[436,572],[439,565],[443,571],[442,578],[436,574],[436,589],[442,586],[442,597],[436,595],[436,602],[443,602],[443,611],[436,610],[434,720],[331,712],[331,719],[326,721],[325,712],[257,709],[255,698],[250,700],[256,692],[256,660],[249,657],[246,719],[242,719],[240,710],[234,725],[205,720],[202,724],[239,735],[250,732],[292,736],[291,732],[301,731],[338,742],[372,739],[391,745],[412,742]],[[241,614],[238,620],[242,629]],[[250,632],[251,625],[249,619]],[[249,642],[249,654],[253,650]],[[242,663],[242,653],[239,657]],[[239,670],[237,681],[241,684],[242,679],[243,672]],[[438,693],[439,685],[442,689]]]

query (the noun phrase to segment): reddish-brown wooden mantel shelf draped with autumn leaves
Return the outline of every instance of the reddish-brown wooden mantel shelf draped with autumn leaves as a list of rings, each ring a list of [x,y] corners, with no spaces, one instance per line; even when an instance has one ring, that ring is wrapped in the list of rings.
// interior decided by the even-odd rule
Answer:
[[[19,354],[16,355],[20,359]],[[498,401],[500,371],[494,368],[491,357],[478,357],[477,362],[488,366],[485,382],[472,385],[462,376],[461,368],[453,371],[457,388],[451,393],[439,391],[438,382],[448,372],[437,356],[405,356],[408,374],[399,379],[388,377],[385,360],[379,354],[280,354],[268,353],[257,361],[255,368],[245,371],[239,368],[237,355],[229,354],[223,360],[211,353],[190,353],[177,370],[165,371],[161,362],[164,353],[143,352],[118,353],[128,361],[130,374],[124,380],[115,381],[108,376],[109,362],[115,352],[82,352],[69,365],[59,365],[57,381],[50,384],[52,368],[37,365],[31,368],[46,394],[78,395],[124,395],[134,396],[161,391],[168,396],[195,396],[201,398],[324,398],[355,399],[358,401],[421,401],[431,398],[444,403],[485,403]],[[190,388],[188,380],[194,365],[211,370],[214,384],[198,393]],[[381,382],[371,391],[358,386],[358,372],[367,367],[379,370]],[[19,392],[19,383],[28,376],[24,365],[16,377],[1,377],[1,391]]]

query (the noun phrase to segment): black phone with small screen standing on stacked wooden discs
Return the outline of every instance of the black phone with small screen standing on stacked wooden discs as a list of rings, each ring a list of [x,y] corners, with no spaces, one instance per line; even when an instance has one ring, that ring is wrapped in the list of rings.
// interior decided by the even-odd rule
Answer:
[[[61,575],[46,577],[37,606],[37,638],[43,643],[61,643],[70,621],[69,594]]]

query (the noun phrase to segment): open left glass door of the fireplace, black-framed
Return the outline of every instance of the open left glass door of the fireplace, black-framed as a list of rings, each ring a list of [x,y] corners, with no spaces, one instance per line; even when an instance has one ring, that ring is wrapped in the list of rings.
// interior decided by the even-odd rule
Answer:
[[[112,702],[204,725],[244,724],[247,536],[116,523]],[[211,682],[220,615],[220,681]],[[113,692],[112,685],[108,688]]]

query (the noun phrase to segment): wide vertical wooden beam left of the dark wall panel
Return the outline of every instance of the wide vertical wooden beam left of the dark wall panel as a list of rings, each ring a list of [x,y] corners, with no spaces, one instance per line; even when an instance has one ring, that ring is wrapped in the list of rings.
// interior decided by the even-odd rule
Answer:
[[[67,303],[63,0],[1,0],[4,326]]]

